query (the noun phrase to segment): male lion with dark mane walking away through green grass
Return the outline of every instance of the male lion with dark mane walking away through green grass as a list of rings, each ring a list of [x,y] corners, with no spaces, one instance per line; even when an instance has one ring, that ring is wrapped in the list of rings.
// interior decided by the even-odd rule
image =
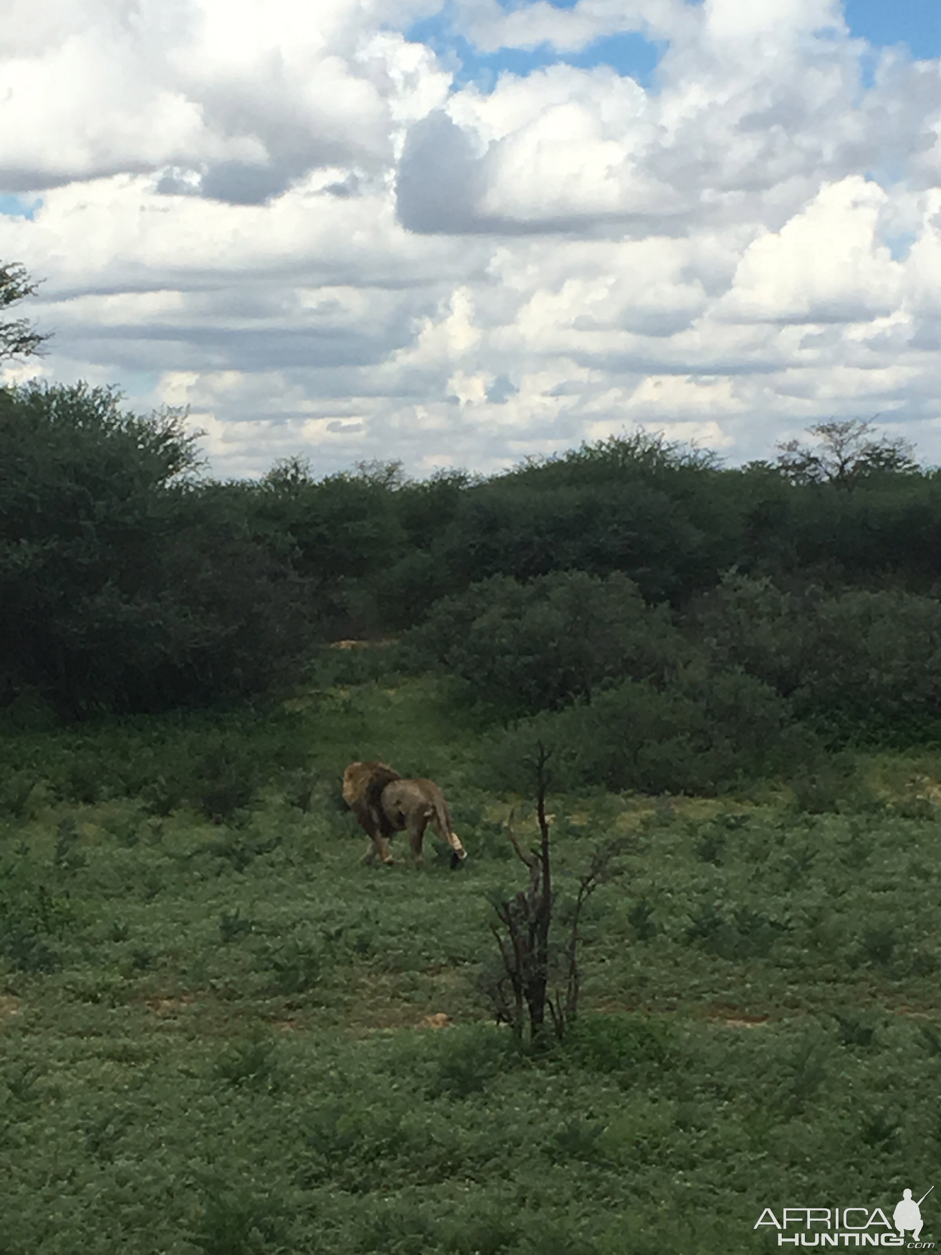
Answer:
[[[343,798],[369,833],[373,845],[364,862],[393,861],[389,838],[408,832],[412,853],[422,866],[422,842],[430,823],[452,848],[450,866],[457,867],[467,851],[452,831],[450,816],[442,791],[432,781],[404,781],[386,763],[350,763],[343,773]]]

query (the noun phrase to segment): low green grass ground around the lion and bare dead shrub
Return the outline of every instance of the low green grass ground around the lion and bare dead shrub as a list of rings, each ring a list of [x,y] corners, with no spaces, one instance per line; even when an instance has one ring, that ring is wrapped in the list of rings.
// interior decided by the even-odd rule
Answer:
[[[458,872],[360,865],[370,757],[442,784]],[[481,993],[512,799],[433,685],[0,740],[0,1252],[718,1255],[777,1247],[765,1206],[891,1214],[941,1153],[938,766],[821,813],[552,798],[563,896],[639,845],[532,1059]]]

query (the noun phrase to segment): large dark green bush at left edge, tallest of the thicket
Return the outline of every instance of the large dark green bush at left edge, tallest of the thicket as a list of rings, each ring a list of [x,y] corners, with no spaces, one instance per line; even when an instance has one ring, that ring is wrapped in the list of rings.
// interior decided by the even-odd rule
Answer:
[[[73,715],[256,693],[310,638],[285,543],[194,479],[179,414],[109,389],[0,390],[0,679]]]

